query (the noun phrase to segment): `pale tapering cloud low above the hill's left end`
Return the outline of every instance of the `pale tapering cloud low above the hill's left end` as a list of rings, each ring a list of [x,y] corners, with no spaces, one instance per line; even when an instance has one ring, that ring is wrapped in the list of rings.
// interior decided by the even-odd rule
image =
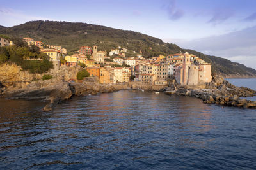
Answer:
[[[23,11],[13,10],[12,8],[0,8],[0,18],[0,25],[7,27],[19,25],[31,20],[54,20],[52,18],[26,15]]]

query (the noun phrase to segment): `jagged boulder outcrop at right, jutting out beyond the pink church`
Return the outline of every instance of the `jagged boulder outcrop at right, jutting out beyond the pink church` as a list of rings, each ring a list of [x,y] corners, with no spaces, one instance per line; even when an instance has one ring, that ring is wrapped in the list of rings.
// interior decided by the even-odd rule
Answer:
[[[236,87],[222,76],[214,76],[204,89],[179,85],[176,89],[166,89],[166,94],[177,94],[182,96],[194,96],[200,98],[204,103],[221,104],[226,106],[237,106],[244,108],[256,108],[256,101],[241,99],[240,97],[256,96],[256,91],[247,87]]]

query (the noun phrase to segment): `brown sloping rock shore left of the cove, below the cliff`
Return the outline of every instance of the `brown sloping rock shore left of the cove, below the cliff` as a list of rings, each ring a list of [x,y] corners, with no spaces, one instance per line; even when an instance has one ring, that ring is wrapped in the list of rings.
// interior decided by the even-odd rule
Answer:
[[[46,86],[44,84],[47,84]],[[60,104],[72,96],[86,96],[89,94],[115,92],[121,89],[128,89],[127,85],[100,85],[90,82],[54,82],[51,80],[31,83],[28,87],[18,90],[2,90],[1,97],[7,99],[44,99],[49,103],[43,111],[51,111],[56,104]]]

